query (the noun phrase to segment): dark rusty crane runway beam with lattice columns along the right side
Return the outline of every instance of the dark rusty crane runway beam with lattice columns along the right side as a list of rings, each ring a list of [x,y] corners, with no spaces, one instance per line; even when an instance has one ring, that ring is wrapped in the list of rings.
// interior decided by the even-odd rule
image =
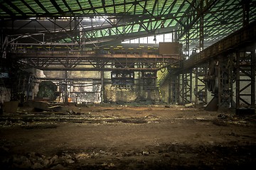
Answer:
[[[199,80],[206,82],[207,89],[214,96],[208,104],[209,111],[225,110],[232,106],[237,109],[255,108],[255,38],[256,22],[253,22],[196,53],[188,60],[184,60],[183,67],[178,69],[176,74],[189,73],[191,68],[198,68],[196,66],[202,66],[208,62],[207,73],[204,69],[204,72],[201,72],[203,75],[197,74],[198,69],[196,69],[196,79],[198,76],[204,77]],[[234,82],[236,91],[233,90]],[[242,82],[245,85],[242,85]],[[198,88],[197,83],[196,88]],[[234,92],[235,102],[233,101]],[[245,100],[245,96],[249,96],[249,101]]]

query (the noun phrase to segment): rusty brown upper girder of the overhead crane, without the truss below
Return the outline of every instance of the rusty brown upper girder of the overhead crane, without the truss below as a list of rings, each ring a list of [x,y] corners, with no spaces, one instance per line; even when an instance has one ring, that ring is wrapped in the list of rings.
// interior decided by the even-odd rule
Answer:
[[[68,47],[48,45],[42,46],[18,46],[16,50],[11,50],[10,55],[21,58],[151,58],[151,59],[169,59],[179,60],[180,54],[159,55],[159,47],[156,45],[117,45],[110,47],[99,47],[93,49],[82,49],[73,47],[73,50],[67,50]]]

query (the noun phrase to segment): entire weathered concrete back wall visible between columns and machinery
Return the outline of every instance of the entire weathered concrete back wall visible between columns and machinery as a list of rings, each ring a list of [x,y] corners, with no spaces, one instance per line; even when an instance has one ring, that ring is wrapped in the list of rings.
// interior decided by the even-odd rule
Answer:
[[[37,71],[37,77],[41,78],[64,78],[64,72],[57,71]],[[158,73],[158,77],[161,77],[161,73]],[[195,102],[195,75],[193,74],[192,81],[192,101]],[[100,72],[82,72],[82,71],[72,71],[68,72],[69,79],[77,79],[70,83],[68,86],[68,96],[70,97],[72,102],[75,103],[100,103],[102,100],[104,102],[119,102],[119,103],[127,103],[127,102],[141,102],[146,101],[148,98],[148,91],[143,90],[142,86],[138,86],[139,84],[139,72],[134,73],[134,78],[136,86],[132,89],[119,89],[117,86],[112,86],[111,84],[111,72],[104,73],[104,91],[102,98],[102,86],[101,86],[101,73]],[[84,80],[79,80],[84,79]],[[86,80],[85,80],[86,79]],[[59,84],[59,81],[53,81],[55,84]],[[72,86],[72,84],[74,84]],[[245,86],[246,84],[242,83],[241,86]],[[164,103],[171,102],[171,82],[170,79],[167,78],[163,84],[159,87],[161,101]],[[58,86],[60,90],[60,86]],[[255,89],[256,90],[256,89]],[[36,94],[38,91],[38,84],[33,88],[33,93]],[[235,84],[233,87],[234,91],[234,101],[235,101]],[[250,94],[250,88],[246,89],[245,94]],[[211,93],[208,91],[208,102],[213,98]],[[61,95],[60,101],[63,101],[64,94]],[[154,94],[151,93],[151,99],[154,99]],[[245,100],[250,102],[250,98],[245,97]]]

